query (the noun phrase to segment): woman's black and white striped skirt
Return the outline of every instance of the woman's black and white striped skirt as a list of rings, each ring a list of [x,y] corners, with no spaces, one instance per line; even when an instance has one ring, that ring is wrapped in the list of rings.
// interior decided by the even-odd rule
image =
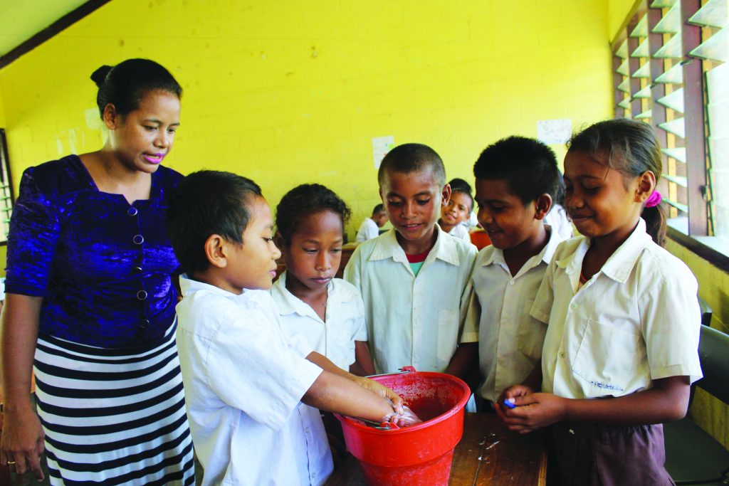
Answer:
[[[52,485],[195,484],[175,327],[154,348],[39,336],[36,400]]]

